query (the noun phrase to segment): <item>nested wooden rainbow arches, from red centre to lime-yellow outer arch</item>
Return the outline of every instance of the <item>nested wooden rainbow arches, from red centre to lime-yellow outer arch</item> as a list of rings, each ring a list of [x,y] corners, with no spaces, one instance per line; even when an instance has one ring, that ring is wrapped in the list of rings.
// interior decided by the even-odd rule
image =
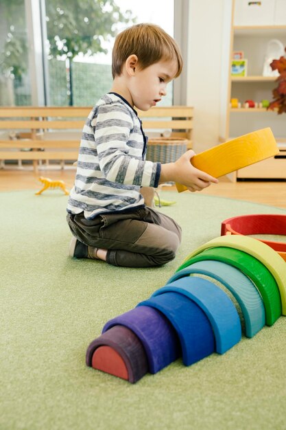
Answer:
[[[108,321],[88,346],[86,365],[135,383],[180,356],[189,366],[224,354],[281,315],[283,258],[257,239],[220,236],[195,249],[151,297]]]

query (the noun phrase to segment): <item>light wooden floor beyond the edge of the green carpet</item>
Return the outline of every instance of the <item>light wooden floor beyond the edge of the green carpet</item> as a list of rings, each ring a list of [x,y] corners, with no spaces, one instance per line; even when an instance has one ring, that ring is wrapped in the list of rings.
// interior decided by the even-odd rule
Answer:
[[[0,170],[0,191],[40,190],[40,176],[62,180],[67,188],[73,186],[75,168],[45,168],[34,172],[32,168],[4,168]],[[169,188],[167,188],[169,190]],[[174,187],[174,190],[176,188]],[[246,200],[286,209],[286,181],[239,181],[231,182],[227,177],[219,179],[217,185],[211,185],[203,194],[224,196],[230,199]]]

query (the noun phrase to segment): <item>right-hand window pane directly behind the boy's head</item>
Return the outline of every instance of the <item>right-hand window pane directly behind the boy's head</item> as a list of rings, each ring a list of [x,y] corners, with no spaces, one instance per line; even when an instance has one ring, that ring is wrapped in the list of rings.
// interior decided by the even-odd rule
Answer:
[[[92,5],[92,7],[91,7]],[[150,22],[174,35],[174,0],[46,0],[49,104],[93,106],[112,86],[111,52],[117,32]],[[164,12],[164,13],[163,13]],[[172,84],[165,104],[172,104]]]

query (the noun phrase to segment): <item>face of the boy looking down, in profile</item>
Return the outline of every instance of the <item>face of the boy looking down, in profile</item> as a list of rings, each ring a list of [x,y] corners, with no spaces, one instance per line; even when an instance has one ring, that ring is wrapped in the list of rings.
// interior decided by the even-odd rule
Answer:
[[[133,105],[147,111],[167,94],[166,87],[178,71],[176,61],[159,61],[145,69],[138,66],[130,82],[129,91]]]

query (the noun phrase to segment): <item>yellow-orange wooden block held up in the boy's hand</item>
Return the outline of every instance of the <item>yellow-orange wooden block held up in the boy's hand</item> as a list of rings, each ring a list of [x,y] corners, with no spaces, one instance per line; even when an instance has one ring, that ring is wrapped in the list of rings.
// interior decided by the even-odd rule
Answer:
[[[267,127],[200,152],[193,156],[191,164],[218,178],[257,161],[273,157],[278,152],[275,137],[271,128]],[[187,187],[180,183],[176,183],[176,188],[178,192],[187,190]]]

